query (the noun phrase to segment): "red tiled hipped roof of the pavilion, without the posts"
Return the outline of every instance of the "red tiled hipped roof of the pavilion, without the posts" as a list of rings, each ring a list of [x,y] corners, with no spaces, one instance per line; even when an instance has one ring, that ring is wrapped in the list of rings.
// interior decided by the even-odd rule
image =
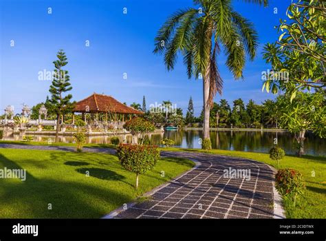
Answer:
[[[73,112],[113,112],[119,114],[144,114],[117,101],[112,96],[105,94],[92,94],[78,101]]]

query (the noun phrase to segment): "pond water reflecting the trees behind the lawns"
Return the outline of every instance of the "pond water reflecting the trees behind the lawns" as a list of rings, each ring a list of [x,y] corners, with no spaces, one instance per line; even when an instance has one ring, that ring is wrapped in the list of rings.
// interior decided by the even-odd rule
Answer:
[[[150,140],[153,145],[160,145],[162,138],[170,138],[175,141],[175,147],[201,148],[200,140],[203,136],[202,130],[166,130],[164,133],[151,134]],[[236,151],[268,152],[273,146],[274,138],[277,137],[278,144],[285,150],[286,154],[295,154],[294,137],[289,132],[243,132],[243,131],[210,131],[210,140],[213,149],[225,149]],[[54,136],[34,136],[34,141],[53,141]],[[61,142],[72,143],[71,136],[61,136]],[[89,136],[87,143],[106,144],[109,136]],[[131,143],[131,135],[120,135],[120,141],[127,140]],[[5,140],[19,140],[19,135],[6,136]],[[305,154],[314,156],[326,156],[326,140],[318,138],[307,132],[304,143]]]

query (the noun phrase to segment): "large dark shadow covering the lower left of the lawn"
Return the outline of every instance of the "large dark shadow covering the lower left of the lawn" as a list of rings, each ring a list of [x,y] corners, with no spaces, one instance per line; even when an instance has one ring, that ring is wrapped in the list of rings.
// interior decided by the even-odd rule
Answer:
[[[1,154],[0,163],[8,169],[23,169]],[[94,187],[87,182],[37,179],[28,171],[26,176],[24,182],[0,180],[0,207],[6,207],[0,218],[100,218],[133,198],[132,193]],[[105,203],[99,205],[94,200]]]

